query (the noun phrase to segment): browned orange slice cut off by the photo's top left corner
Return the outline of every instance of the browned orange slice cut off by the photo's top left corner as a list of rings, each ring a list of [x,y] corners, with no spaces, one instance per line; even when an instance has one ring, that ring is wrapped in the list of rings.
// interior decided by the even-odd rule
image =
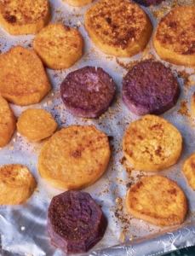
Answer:
[[[35,34],[50,19],[48,0],[0,1],[0,24],[11,35]]]

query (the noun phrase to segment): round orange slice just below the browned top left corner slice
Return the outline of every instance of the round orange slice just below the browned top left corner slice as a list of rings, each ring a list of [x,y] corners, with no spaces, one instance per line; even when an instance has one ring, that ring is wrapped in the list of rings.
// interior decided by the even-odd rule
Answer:
[[[77,29],[51,23],[37,33],[33,47],[51,69],[71,67],[83,55],[83,37]]]

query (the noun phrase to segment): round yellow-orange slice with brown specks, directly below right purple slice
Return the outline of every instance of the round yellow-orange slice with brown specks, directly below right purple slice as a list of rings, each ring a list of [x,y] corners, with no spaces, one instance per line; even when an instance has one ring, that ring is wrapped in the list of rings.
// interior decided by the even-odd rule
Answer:
[[[152,114],[132,122],[123,137],[123,154],[135,170],[157,172],[172,166],[181,149],[180,131]]]

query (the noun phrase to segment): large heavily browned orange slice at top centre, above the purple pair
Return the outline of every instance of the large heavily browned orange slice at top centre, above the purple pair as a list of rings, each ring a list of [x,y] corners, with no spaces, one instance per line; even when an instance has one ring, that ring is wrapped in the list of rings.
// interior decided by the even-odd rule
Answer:
[[[123,57],[145,49],[152,33],[149,17],[129,0],[100,0],[87,10],[84,26],[100,50]]]

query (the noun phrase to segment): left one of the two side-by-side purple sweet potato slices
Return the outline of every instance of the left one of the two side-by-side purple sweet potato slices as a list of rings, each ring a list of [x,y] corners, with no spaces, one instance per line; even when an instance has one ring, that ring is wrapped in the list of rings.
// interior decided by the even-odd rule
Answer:
[[[83,67],[68,73],[60,84],[60,96],[70,113],[96,118],[112,104],[116,84],[101,67]]]

